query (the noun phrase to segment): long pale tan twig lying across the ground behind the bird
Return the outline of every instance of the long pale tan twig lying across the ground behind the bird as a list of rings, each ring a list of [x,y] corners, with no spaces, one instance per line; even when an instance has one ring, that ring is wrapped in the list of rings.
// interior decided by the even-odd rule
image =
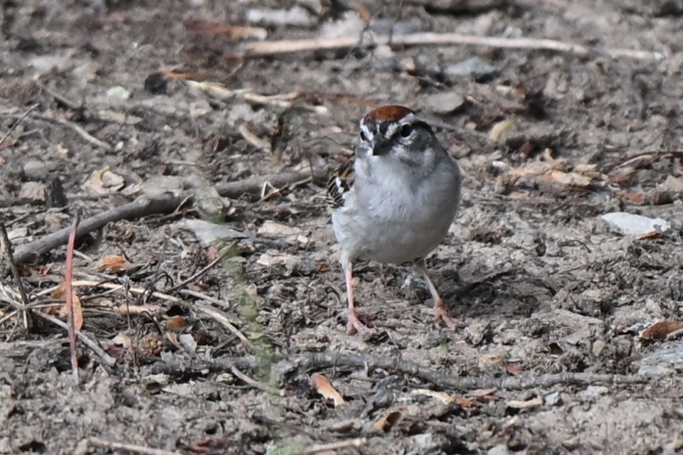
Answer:
[[[500,38],[496,36],[470,36],[458,33],[410,33],[398,36],[376,36],[374,40],[359,42],[358,36],[340,38],[313,38],[303,40],[260,41],[245,43],[242,50],[248,56],[266,56],[283,53],[304,52],[307,50],[343,49],[357,46],[368,48],[375,45],[484,45],[491,48],[541,49],[574,55],[593,55],[604,53],[612,58],[634,58],[636,60],[662,60],[658,52],[632,49],[593,48],[576,43],[565,43],[544,38]]]

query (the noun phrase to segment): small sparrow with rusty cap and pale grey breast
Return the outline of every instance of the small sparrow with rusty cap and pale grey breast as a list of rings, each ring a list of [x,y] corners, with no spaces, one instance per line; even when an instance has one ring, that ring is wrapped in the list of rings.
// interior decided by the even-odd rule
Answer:
[[[346,279],[346,332],[367,333],[354,304],[353,264],[413,262],[434,300],[435,322],[457,328],[425,267],[460,203],[462,176],[430,125],[404,106],[383,106],[359,122],[354,160],[327,183],[332,228]]]

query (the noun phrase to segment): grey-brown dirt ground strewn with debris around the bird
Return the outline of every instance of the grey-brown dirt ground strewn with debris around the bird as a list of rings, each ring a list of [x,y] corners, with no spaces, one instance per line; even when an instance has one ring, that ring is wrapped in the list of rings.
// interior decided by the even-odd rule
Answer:
[[[290,16],[275,23],[275,10]],[[1,11],[0,220],[15,252],[77,213],[176,199],[79,237],[83,333],[102,349],[79,343],[80,387],[66,331],[43,316],[65,320],[64,242],[21,261],[41,312],[26,321],[3,252],[0,454],[683,451],[676,2],[25,0]],[[595,51],[393,43],[243,57],[259,39],[366,26],[364,42],[393,27]],[[475,73],[458,75],[475,57]],[[428,259],[457,331],[433,323],[409,267],[366,263],[356,294],[374,333],[344,332],[323,177],[383,104],[418,109],[465,175]],[[240,190],[249,178],[263,193]],[[620,211],[670,228],[623,235],[600,218]]]

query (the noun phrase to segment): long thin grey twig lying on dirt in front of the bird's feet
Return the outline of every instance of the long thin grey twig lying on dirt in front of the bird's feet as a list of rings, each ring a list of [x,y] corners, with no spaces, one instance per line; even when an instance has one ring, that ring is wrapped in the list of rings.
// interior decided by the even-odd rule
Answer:
[[[403,373],[420,378],[439,387],[457,390],[487,389],[495,387],[504,390],[526,390],[553,385],[593,385],[605,383],[613,385],[638,384],[650,380],[645,375],[600,375],[597,373],[559,373],[555,375],[539,375],[511,378],[474,378],[460,377],[448,372],[439,372],[425,368],[418,363],[401,358],[377,357],[358,354],[303,353],[295,359],[301,368],[329,368],[332,366],[382,369],[393,373]]]

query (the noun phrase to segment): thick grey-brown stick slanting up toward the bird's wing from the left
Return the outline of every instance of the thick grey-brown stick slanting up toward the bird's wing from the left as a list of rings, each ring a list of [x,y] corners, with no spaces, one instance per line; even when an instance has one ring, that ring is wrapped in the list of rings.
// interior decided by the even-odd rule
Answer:
[[[223,198],[240,198],[245,194],[257,195],[260,193],[263,181],[270,181],[273,186],[287,186],[303,181],[308,177],[309,174],[302,172],[280,173],[274,176],[254,176],[245,178],[242,181],[223,183],[216,186],[216,191]],[[138,198],[132,203],[120,205],[83,220],[83,223],[80,223],[78,226],[77,235],[86,235],[115,221],[136,220],[137,218],[149,215],[172,213],[182,204],[191,203],[193,200],[194,197],[191,193],[181,193],[179,196],[164,195],[156,198]],[[65,245],[68,241],[69,233],[70,228],[64,228],[33,242],[21,245],[17,248],[14,255],[16,264],[26,264],[26,262],[31,262],[60,245]]]

